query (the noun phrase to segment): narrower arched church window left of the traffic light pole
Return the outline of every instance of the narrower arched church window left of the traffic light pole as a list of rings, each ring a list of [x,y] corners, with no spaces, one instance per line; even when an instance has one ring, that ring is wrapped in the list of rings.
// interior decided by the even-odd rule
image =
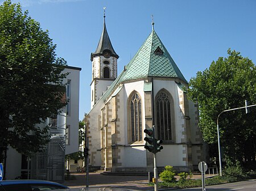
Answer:
[[[131,97],[131,141],[142,141],[141,98],[137,93]]]

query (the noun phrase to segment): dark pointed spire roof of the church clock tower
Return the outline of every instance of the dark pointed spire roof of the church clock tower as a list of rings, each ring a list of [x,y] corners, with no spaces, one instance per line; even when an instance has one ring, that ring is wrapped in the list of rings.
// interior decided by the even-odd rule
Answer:
[[[111,44],[111,41],[109,39],[108,31],[106,29],[106,24],[105,24],[105,15],[104,15],[104,25],[103,25],[103,30],[101,33],[101,38],[100,38],[100,41],[98,42],[96,51],[91,54],[90,60],[92,61],[92,58],[94,56],[104,55],[104,50],[108,50],[108,52],[110,51],[110,56],[119,58],[117,53],[115,53],[115,50],[114,50],[114,48]]]

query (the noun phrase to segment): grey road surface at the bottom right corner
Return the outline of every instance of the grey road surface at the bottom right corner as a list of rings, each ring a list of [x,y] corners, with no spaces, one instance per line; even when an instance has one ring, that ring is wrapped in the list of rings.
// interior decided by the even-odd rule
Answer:
[[[175,189],[175,191],[203,191],[202,188]],[[206,186],[206,191],[256,191],[256,180],[247,180],[241,182],[233,182],[228,184],[220,184]]]

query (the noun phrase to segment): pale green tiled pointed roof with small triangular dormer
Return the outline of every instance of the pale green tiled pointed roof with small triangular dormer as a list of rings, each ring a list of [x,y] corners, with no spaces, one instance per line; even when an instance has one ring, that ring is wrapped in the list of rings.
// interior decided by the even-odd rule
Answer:
[[[160,50],[159,54],[155,53],[157,49]],[[187,83],[154,30],[128,63],[121,81],[146,77],[179,78]]]

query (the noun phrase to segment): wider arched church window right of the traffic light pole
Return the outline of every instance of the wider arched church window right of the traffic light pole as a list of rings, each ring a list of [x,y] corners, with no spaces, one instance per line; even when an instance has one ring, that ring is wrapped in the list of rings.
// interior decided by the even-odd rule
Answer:
[[[166,90],[161,90],[155,99],[157,138],[173,141],[174,101]]]

